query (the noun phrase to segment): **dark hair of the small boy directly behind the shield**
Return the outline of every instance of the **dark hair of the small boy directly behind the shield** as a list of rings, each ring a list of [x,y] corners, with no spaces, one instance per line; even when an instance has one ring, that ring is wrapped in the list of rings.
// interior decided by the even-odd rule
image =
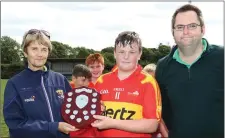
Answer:
[[[85,77],[87,79],[91,79],[92,77],[90,69],[83,64],[75,65],[72,71],[72,75],[74,77]]]

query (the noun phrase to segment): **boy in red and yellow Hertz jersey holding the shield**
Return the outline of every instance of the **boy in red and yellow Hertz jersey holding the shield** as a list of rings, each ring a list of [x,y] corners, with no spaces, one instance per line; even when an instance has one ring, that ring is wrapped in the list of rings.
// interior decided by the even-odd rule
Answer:
[[[161,97],[156,80],[142,71],[138,61],[139,35],[125,31],[115,40],[117,69],[100,76],[95,88],[105,104],[105,116],[95,115],[93,127],[100,137],[150,137],[161,116]]]

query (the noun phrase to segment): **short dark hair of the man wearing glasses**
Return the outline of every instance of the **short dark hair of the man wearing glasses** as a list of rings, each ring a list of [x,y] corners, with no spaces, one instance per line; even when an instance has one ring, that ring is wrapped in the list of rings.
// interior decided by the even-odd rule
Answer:
[[[180,8],[178,8],[174,14],[173,14],[173,17],[172,17],[172,29],[174,28],[174,24],[175,24],[175,21],[176,21],[176,16],[178,13],[182,13],[182,12],[187,12],[187,11],[194,11],[197,16],[198,16],[198,20],[200,22],[200,26],[204,26],[204,20],[203,20],[203,16],[202,16],[202,11],[194,6],[194,5],[191,5],[191,4],[185,4],[183,6],[181,6]]]

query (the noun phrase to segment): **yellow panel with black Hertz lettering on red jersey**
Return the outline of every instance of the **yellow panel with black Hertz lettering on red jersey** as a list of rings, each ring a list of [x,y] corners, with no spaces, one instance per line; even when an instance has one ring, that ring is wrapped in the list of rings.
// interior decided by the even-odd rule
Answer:
[[[118,120],[136,120],[143,118],[142,106],[126,102],[104,102],[103,115]]]

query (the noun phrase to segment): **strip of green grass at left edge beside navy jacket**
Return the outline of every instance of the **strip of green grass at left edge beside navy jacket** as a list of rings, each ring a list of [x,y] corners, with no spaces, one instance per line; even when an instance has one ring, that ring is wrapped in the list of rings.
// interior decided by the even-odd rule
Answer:
[[[0,135],[1,137],[9,137],[9,130],[8,127],[5,124],[3,114],[2,114],[2,106],[3,106],[3,99],[4,99],[4,90],[5,90],[5,85],[6,85],[7,80],[2,80],[1,79],[1,106],[0,106],[0,123],[1,123],[1,132]]]

